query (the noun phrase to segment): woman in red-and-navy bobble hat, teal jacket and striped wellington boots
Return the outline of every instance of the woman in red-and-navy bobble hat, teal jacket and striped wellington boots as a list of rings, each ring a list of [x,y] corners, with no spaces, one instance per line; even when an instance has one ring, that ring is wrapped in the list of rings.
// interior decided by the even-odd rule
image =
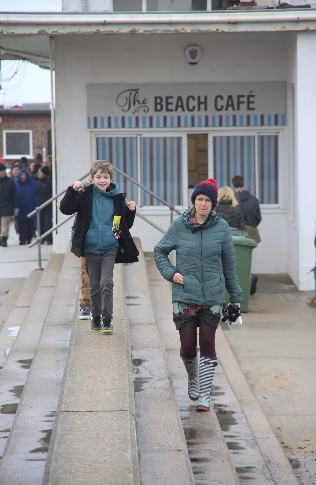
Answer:
[[[180,356],[189,376],[188,394],[192,401],[199,400],[197,411],[209,411],[217,366],[215,332],[226,302],[225,285],[230,302],[239,306],[241,301],[232,235],[227,222],[213,211],[217,194],[212,178],[198,183],[191,196],[193,206],[174,220],[154,250],[161,275],[173,281],[173,320],[180,335]],[[174,249],[176,268],[168,258]]]

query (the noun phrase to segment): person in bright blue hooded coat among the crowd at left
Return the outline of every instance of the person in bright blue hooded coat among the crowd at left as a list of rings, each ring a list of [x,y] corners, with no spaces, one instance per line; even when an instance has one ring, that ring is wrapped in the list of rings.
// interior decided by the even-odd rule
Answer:
[[[33,180],[29,172],[22,168],[16,178],[16,192],[18,194],[20,209],[16,216],[20,245],[30,244],[34,235],[35,216],[28,219],[27,215],[35,209],[35,189],[37,182]]]

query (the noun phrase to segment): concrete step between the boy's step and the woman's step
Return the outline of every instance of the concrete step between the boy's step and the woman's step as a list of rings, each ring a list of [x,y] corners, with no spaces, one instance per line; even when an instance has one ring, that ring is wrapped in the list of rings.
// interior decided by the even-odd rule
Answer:
[[[172,379],[151,304],[146,263],[140,241],[135,242],[139,262],[126,265],[124,272],[141,483],[193,485]]]

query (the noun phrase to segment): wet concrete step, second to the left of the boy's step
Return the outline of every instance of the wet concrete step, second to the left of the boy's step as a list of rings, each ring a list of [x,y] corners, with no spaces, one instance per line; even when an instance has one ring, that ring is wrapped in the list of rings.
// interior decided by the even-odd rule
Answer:
[[[52,255],[44,272],[31,273],[0,333],[2,360],[5,357],[4,349],[7,348],[0,374],[2,456],[6,453],[8,434],[38,348],[62,261],[63,255]],[[3,465],[3,461],[2,457],[0,465]]]

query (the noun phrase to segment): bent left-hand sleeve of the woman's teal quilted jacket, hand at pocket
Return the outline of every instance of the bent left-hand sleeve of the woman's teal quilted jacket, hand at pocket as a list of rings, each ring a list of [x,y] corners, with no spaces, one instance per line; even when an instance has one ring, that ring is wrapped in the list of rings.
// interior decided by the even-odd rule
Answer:
[[[174,224],[171,224],[154,249],[157,268],[167,281],[172,281],[174,274],[177,272],[168,258],[168,254],[176,248],[176,243],[176,230]]]

